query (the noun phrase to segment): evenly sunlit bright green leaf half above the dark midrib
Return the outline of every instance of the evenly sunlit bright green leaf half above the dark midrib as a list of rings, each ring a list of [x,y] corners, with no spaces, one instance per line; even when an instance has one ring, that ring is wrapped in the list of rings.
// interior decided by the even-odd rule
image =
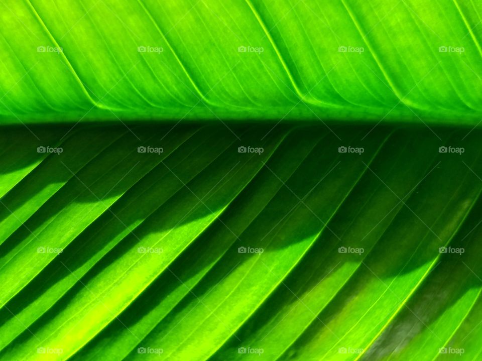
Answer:
[[[477,124],[475,0],[5,0],[2,123]]]

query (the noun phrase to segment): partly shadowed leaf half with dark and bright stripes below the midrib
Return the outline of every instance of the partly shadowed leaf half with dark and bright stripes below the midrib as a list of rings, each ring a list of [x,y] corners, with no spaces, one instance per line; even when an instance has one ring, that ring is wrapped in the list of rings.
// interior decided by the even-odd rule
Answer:
[[[4,127],[0,360],[479,359],[482,133],[262,124]]]

